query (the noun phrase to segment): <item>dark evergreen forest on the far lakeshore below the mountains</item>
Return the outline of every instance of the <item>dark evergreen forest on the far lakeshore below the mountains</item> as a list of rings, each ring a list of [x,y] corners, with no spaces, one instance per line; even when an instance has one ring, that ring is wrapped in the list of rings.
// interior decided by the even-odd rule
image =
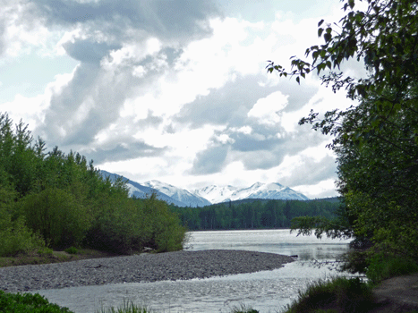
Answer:
[[[213,229],[289,228],[297,216],[333,218],[340,206],[337,199],[266,200],[226,202],[207,207],[171,209],[184,226],[192,231]]]

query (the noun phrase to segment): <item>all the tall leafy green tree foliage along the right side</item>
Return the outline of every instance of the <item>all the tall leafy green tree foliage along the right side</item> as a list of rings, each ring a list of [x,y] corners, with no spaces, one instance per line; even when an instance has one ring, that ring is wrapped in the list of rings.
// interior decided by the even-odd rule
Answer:
[[[358,2],[357,2],[358,4]],[[346,229],[357,241],[371,241],[373,255],[392,251],[418,260],[418,4],[408,0],[367,0],[357,10],[345,0],[345,17],[336,27],[318,25],[325,44],[306,50],[312,63],[294,58],[293,72],[269,63],[269,72],[295,75],[325,72],[321,80],[334,91],[345,88],[358,105],[323,117],[311,111],[300,123],[335,136],[328,145],[337,154],[338,190],[345,199]],[[335,24],[337,25],[337,24]],[[351,58],[363,60],[369,76],[353,79],[339,71]],[[327,72],[328,71],[328,72]],[[302,233],[341,235],[329,221],[299,220]],[[299,224],[298,224],[299,223]]]

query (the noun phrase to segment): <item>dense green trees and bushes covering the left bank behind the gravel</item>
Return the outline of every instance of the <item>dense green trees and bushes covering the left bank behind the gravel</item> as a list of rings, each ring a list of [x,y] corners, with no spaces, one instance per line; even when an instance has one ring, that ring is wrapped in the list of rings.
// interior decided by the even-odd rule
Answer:
[[[131,253],[181,250],[185,228],[166,202],[130,199],[79,153],[34,141],[0,114],[0,256],[49,247]]]

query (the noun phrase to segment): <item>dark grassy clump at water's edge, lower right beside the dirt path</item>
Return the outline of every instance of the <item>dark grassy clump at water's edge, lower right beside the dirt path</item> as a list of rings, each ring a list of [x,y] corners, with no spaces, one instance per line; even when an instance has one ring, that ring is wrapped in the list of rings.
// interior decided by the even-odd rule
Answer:
[[[297,300],[288,306],[286,313],[303,312],[364,312],[371,308],[371,287],[358,277],[337,277],[330,281],[316,281],[299,292]]]

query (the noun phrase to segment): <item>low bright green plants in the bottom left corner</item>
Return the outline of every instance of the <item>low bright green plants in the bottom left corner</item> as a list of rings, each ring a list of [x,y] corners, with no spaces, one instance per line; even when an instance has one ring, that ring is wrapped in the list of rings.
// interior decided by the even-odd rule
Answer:
[[[70,309],[49,303],[38,293],[5,293],[0,291],[0,308],[4,313],[72,313]]]

